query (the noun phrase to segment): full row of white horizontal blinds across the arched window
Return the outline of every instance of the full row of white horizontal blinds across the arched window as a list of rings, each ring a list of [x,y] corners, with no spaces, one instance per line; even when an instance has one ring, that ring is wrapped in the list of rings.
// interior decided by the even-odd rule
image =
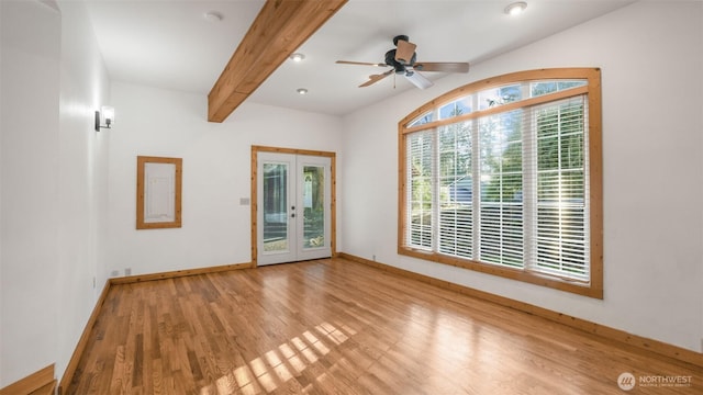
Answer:
[[[588,282],[588,95],[510,109],[405,135],[404,246]]]

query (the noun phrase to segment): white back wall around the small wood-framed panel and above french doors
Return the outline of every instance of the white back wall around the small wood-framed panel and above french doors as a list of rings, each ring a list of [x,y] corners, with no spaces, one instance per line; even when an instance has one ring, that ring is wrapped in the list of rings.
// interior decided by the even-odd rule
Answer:
[[[250,262],[252,145],[338,151],[341,120],[244,103],[207,122],[207,97],[114,82],[107,274]],[[136,157],[183,159],[182,227],[136,230]]]

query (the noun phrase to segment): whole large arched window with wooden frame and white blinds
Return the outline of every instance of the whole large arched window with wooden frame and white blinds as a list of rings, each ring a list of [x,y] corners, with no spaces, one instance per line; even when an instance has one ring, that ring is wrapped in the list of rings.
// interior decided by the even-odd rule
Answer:
[[[603,297],[600,69],[470,83],[399,138],[399,253]]]

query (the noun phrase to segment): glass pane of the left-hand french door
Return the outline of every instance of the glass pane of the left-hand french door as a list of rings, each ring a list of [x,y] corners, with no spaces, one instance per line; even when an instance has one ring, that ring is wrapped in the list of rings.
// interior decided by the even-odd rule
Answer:
[[[288,251],[288,165],[264,163],[264,252]]]

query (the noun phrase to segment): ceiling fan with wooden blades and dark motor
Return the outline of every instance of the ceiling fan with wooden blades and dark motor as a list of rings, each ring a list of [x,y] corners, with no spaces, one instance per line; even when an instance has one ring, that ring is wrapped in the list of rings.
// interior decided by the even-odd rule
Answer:
[[[359,88],[373,84],[391,74],[402,75],[420,89],[432,87],[434,83],[419,71],[444,71],[444,72],[468,72],[468,63],[447,63],[447,61],[417,61],[417,53],[415,53],[415,44],[411,43],[406,35],[398,35],[393,37],[395,49],[386,53],[386,63],[373,64],[364,61],[337,60],[343,65],[361,65],[377,67],[392,67],[391,70],[380,75],[369,76],[369,80],[361,83]]]

